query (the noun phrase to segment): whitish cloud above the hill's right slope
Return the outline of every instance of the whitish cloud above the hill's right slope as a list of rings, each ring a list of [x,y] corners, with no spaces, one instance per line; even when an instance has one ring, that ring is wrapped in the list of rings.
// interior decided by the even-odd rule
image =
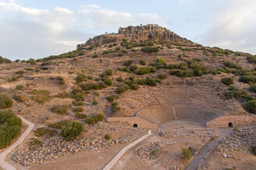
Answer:
[[[201,43],[256,54],[256,2],[229,0],[215,13],[212,27],[201,36]]]

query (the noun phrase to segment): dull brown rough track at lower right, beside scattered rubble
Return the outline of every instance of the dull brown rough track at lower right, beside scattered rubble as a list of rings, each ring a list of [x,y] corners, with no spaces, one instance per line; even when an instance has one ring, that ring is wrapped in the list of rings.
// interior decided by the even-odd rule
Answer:
[[[193,159],[193,161],[190,162],[189,165],[187,165],[184,170],[196,170],[198,169],[199,165],[202,161],[204,161],[204,157],[207,154],[212,154],[214,151],[214,148],[217,147],[218,142],[222,140],[224,137],[229,136],[233,130],[228,130],[226,133],[222,134],[220,137],[216,137],[213,141],[210,141],[206,146],[202,148],[202,150],[197,154],[197,156]]]

